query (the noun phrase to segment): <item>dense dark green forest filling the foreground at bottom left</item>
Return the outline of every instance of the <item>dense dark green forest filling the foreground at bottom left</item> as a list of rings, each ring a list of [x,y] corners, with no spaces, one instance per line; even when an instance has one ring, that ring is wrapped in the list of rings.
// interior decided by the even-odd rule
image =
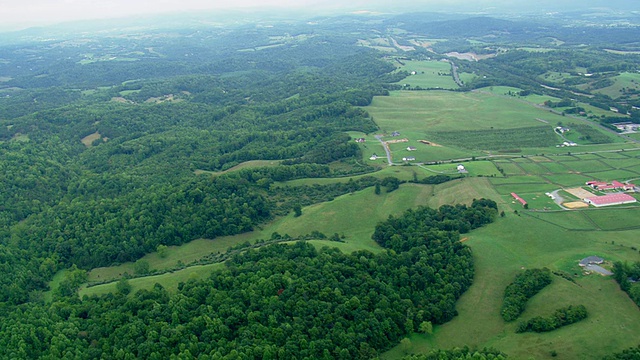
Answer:
[[[305,242],[247,250],[175,295],[156,285],[128,297],[126,283],[82,301],[60,294],[8,312],[0,345],[14,358],[368,359],[456,314],[473,278],[459,233],[496,213],[491,200],[410,210],[377,227],[389,249],[379,254]]]

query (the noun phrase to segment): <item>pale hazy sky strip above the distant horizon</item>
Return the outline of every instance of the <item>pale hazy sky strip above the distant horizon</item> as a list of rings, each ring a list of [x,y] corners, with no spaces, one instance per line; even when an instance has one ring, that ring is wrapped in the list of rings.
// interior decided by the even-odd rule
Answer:
[[[640,3],[637,0],[537,0],[547,4]],[[134,15],[219,9],[285,8],[324,11],[380,10],[401,4],[404,9],[496,9],[531,4],[517,0],[0,0],[0,28],[18,29],[74,20],[122,18]]]

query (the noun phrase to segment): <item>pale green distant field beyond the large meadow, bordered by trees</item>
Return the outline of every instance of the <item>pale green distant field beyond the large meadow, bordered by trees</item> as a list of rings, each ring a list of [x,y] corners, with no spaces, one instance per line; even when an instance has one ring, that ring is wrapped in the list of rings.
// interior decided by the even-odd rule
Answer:
[[[403,61],[405,65],[400,67],[409,74],[415,72],[400,80],[398,84],[406,84],[412,88],[420,87],[423,89],[457,89],[458,84],[453,81],[451,75],[451,65],[444,61]]]

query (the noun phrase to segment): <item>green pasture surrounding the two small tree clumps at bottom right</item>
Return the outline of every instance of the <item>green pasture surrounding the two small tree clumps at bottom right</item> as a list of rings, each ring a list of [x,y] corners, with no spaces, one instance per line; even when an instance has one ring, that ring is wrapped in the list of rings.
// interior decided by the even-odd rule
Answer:
[[[577,212],[565,212],[574,214]],[[535,213],[555,218],[560,213]],[[564,214],[564,213],[562,213]],[[574,216],[574,215],[571,215]],[[567,223],[574,220],[566,219]],[[638,231],[567,231],[527,215],[507,213],[495,224],[475,230],[465,244],[473,250],[476,276],[471,288],[458,301],[459,315],[435,326],[433,335],[413,334],[408,352],[420,353],[434,348],[448,349],[468,345],[471,348],[494,347],[513,359],[602,358],[604,355],[637,346],[640,312],[619,290],[611,278],[582,276],[578,261],[587,255],[607,260],[640,260],[630,246],[639,245]],[[611,244],[621,239],[626,246]],[[527,268],[549,267],[578,273],[576,283],[554,276],[553,283],[530,300],[521,320],[550,314],[569,304],[583,304],[589,317],[579,323],[544,334],[515,334],[517,322],[505,323],[500,317],[504,288],[515,275]],[[597,340],[596,340],[597,339]],[[403,355],[398,346],[383,359]]]

